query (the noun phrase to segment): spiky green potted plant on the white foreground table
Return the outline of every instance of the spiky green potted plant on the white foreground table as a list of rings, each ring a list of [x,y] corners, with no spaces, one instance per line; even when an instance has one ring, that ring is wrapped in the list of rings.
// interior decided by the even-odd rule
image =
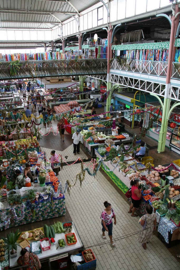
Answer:
[[[16,242],[17,242],[20,235],[21,235],[21,232],[19,232],[19,229],[18,229],[15,232],[15,234],[13,232],[10,232],[7,235],[7,239],[2,238],[6,244],[5,249],[8,250],[11,258],[17,257],[17,247],[19,246],[19,244],[17,244]]]

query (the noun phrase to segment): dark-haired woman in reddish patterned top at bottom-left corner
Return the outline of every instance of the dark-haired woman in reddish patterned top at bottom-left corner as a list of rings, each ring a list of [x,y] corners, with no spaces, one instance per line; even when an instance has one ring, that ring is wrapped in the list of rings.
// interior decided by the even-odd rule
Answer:
[[[41,263],[39,258],[34,253],[29,253],[26,248],[21,249],[21,256],[17,259],[17,263],[20,266],[20,270],[37,270],[41,269]],[[22,266],[22,268],[21,268]]]

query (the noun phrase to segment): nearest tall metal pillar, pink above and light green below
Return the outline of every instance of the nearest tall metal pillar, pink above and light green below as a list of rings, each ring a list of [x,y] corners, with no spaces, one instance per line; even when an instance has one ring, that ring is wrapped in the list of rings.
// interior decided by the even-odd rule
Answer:
[[[179,10],[178,5],[175,6],[176,11]],[[172,5],[172,23],[171,23],[171,35],[169,41],[169,56],[168,56],[168,66],[167,66],[167,76],[166,76],[166,86],[165,86],[165,96],[164,96],[164,104],[162,108],[162,122],[161,122],[161,131],[159,132],[159,141],[158,141],[158,153],[162,153],[165,150],[166,143],[166,134],[168,128],[168,113],[170,110],[171,99],[169,98],[169,90],[170,90],[170,81],[172,75],[172,62],[174,60],[174,42],[175,42],[175,33],[178,27],[178,23],[175,23],[176,19],[179,18],[179,14],[176,12]]]

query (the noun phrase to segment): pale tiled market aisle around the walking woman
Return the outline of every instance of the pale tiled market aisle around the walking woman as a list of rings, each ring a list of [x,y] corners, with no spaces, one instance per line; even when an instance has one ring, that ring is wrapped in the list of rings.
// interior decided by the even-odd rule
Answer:
[[[44,150],[44,149],[43,149]],[[82,151],[82,150],[81,150]],[[62,152],[74,156],[72,146]],[[58,154],[58,151],[57,151]],[[80,152],[81,154],[81,152]],[[84,154],[85,155],[85,154]],[[88,164],[87,162],[86,164]],[[64,186],[65,181],[75,181],[80,172],[80,164],[64,166],[59,178]],[[97,258],[97,269],[165,269],[180,268],[178,261],[171,255],[165,245],[153,235],[148,249],[144,250],[138,243],[140,225],[139,217],[128,214],[129,205],[99,171],[91,177],[86,173],[82,187],[79,182],[71,189],[70,196],[66,193],[66,207],[75,222],[85,248],[91,248]],[[100,214],[104,209],[103,202],[108,200],[115,210],[117,225],[113,227],[113,238],[116,248],[112,248],[107,240],[101,238]]]

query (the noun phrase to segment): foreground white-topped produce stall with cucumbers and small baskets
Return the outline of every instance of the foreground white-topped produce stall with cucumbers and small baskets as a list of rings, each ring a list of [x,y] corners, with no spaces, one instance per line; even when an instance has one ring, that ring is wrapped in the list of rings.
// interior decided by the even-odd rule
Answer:
[[[66,224],[71,225],[64,227]],[[37,235],[37,231],[41,232]],[[40,262],[48,263],[48,269],[51,269],[51,261],[56,261],[56,265],[61,269],[60,266],[62,262],[66,261],[60,259],[63,257],[63,254],[67,258],[67,254],[78,254],[79,251],[82,251],[84,248],[76,226],[72,221],[64,223],[58,221],[51,226],[45,225],[43,228],[38,228],[33,231],[21,232],[20,238],[22,238],[22,240],[18,240],[17,243],[23,245],[23,247],[29,244],[31,251],[35,252]],[[27,242],[27,244],[25,244],[25,242]],[[39,250],[37,250],[38,248]],[[26,249],[29,249],[29,247],[26,247]],[[10,257],[10,268],[18,266],[17,259],[20,256],[20,251],[21,247],[18,246],[16,257]],[[84,261],[83,264],[85,266],[86,262]],[[66,266],[68,265],[69,261],[67,261]]]

